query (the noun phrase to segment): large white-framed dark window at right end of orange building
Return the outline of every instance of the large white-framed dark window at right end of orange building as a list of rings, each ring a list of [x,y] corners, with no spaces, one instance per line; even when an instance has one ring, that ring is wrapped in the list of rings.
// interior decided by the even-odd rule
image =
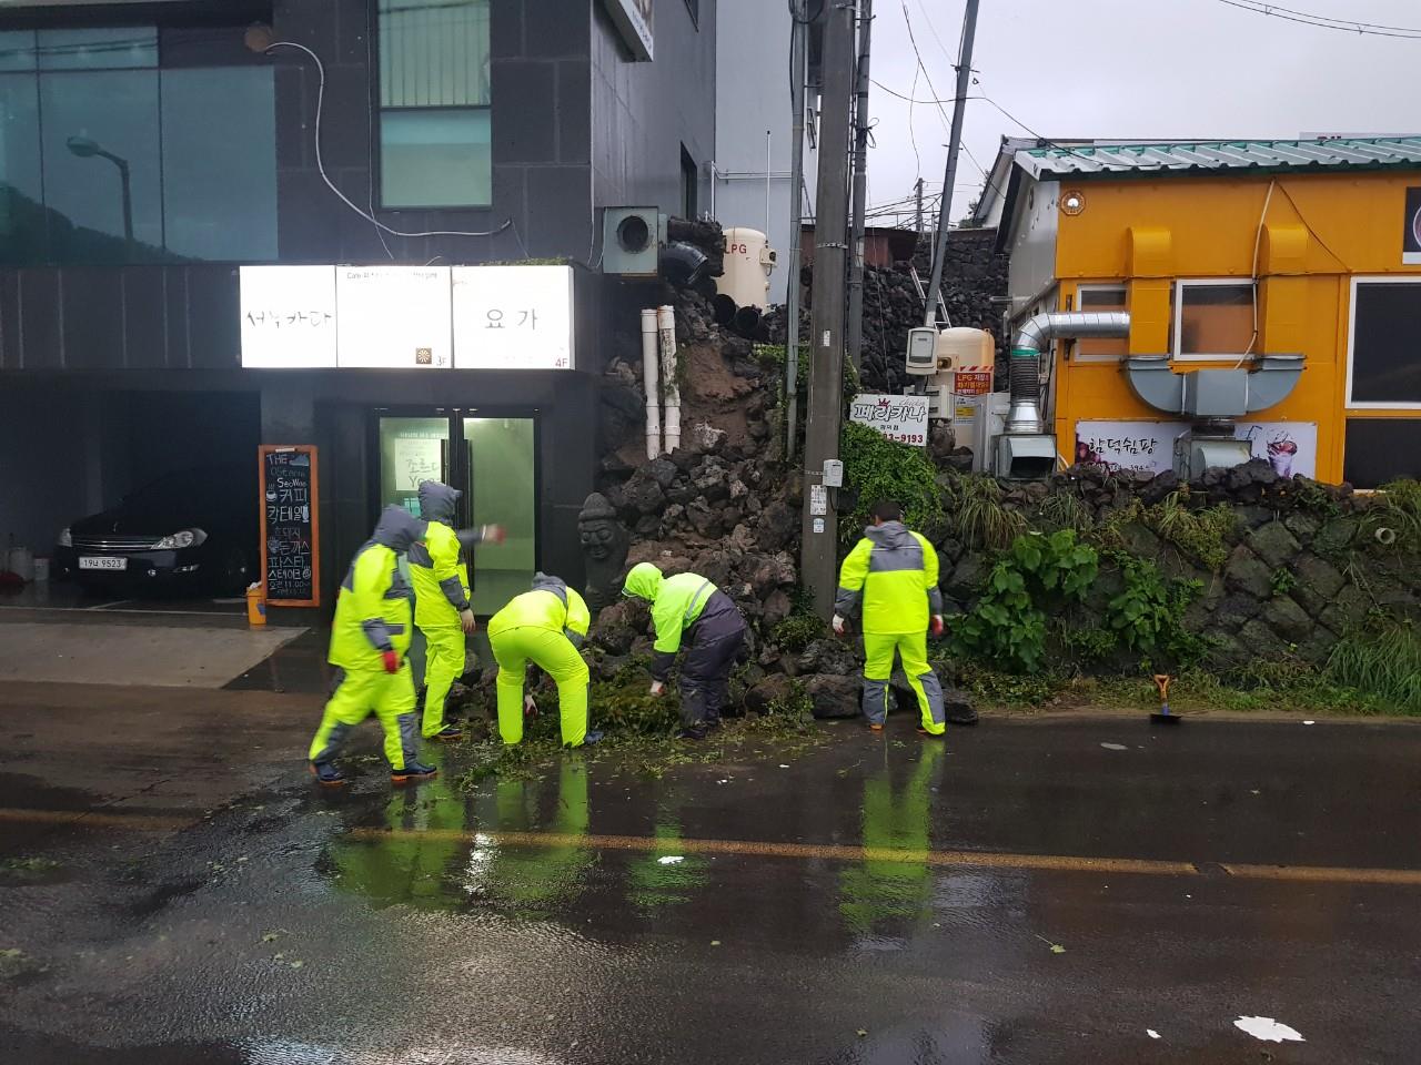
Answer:
[[[1347,406],[1421,408],[1421,280],[1354,278]]]

